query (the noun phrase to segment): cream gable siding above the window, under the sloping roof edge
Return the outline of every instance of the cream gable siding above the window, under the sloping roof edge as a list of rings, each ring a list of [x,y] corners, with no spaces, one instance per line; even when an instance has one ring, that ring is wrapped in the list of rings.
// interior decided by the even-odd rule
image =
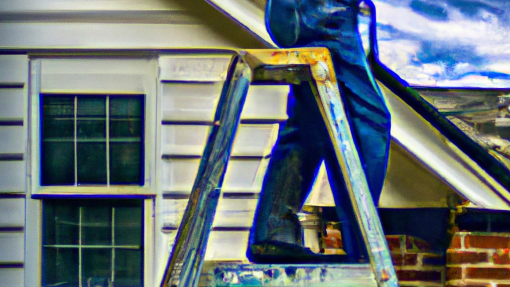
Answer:
[[[2,0],[0,35],[7,49],[263,47],[202,0]]]

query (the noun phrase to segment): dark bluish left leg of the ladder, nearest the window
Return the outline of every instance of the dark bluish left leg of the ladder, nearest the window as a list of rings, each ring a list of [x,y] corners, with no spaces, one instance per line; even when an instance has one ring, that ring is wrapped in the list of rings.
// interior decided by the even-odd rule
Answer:
[[[221,184],[230,158],[241,111],[251,80],[249,67],[234,56],[216,108],[214,125],[203,152],[193,189],[184,212],[162,287],[197,286]]]

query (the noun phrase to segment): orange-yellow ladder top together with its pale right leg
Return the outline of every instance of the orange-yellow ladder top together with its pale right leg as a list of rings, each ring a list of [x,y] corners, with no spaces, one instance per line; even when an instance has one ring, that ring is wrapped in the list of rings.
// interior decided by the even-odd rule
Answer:
[[[315,98],[330,140],[333,142],[339,168],[346,183],[357,224],[360,226],[367,246],[370,265],[377,283],[381,287],[398,286],[388,243],[354,144],[329,51],[326,48],[248,50],[245,58],[253,70],[283,65],[309,66],[312,74],[309,80],[313,83],[312,88],[317,91]],[[282,77],[281,73],[254,73],[253,82],[269,81],[271,80],[267,78],[269,75],[275,77],[272,80],[279,82],[305,80]],[[303,77],[304,75],[299,73],[295,76]]]

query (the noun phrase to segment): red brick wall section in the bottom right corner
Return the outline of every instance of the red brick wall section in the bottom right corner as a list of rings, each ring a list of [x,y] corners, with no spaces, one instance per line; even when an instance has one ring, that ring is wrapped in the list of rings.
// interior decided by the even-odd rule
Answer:
[[[446,252],[446,286],[510,287],[510,233],[457,232]]]

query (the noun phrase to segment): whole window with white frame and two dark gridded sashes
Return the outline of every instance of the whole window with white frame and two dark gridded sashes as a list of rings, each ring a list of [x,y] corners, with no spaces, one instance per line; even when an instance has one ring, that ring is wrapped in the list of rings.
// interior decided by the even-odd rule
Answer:
[[[25,285],[153,285],[157,58],[30,63]]]

